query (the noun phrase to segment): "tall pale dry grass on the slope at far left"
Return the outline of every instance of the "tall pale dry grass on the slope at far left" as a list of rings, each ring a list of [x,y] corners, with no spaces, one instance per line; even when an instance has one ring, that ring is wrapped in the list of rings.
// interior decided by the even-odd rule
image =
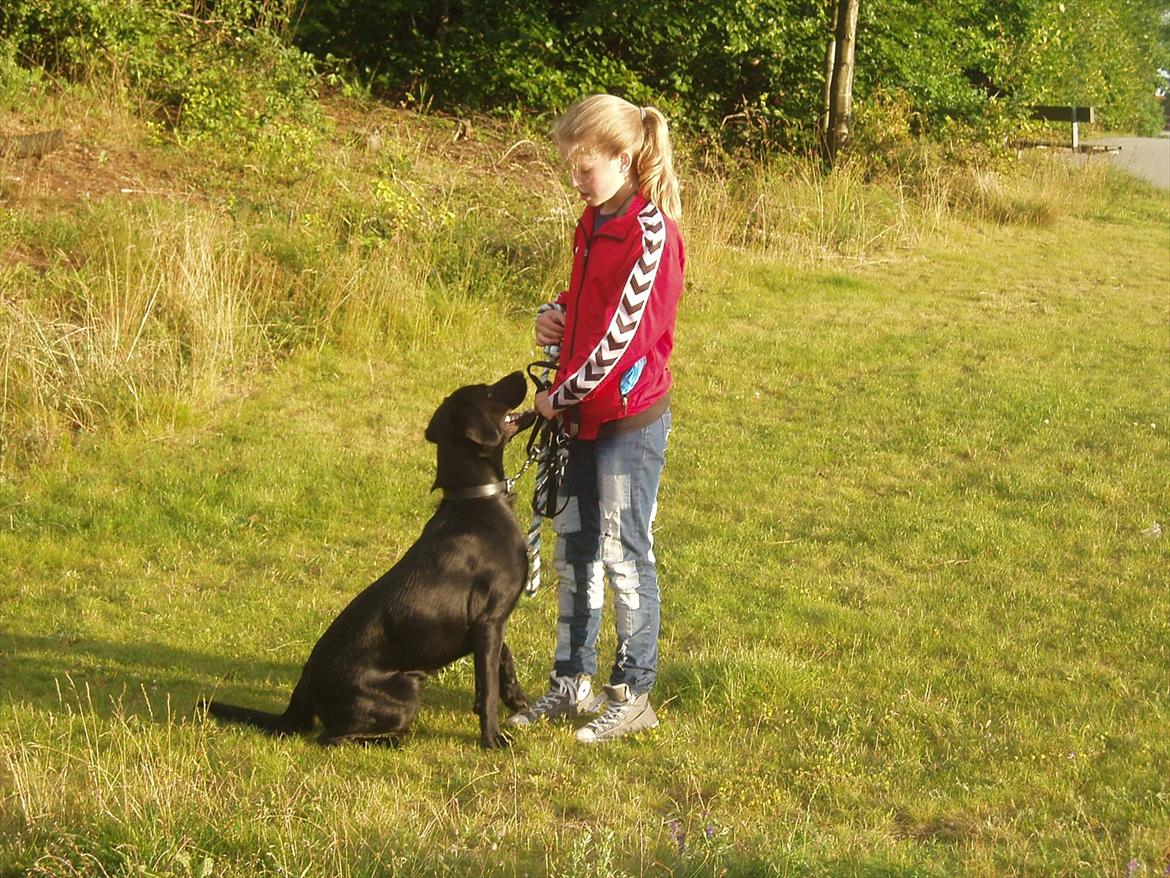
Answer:
[[[7,441],[139,418],[147,398],[205,398],[264,349],[271,273],[225,218],[163,207],[102,219],[89,262],[9,275],[0,300]]]

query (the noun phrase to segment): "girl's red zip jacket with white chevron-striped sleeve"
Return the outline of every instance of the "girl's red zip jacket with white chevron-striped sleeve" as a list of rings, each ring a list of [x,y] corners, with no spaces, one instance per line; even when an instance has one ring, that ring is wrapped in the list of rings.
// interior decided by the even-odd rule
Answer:
[[[557,377],[549,402],[576,420],[580,439],[638,414],[670,389],[674,318],[686,265],[679,227],[642,194],[593,231],[597,208],[577,222]],[[622,377],[646,358],[626,393]],[[631,376],[632,377],[632,376]],[[571,411],[569,411],[571,410]]]

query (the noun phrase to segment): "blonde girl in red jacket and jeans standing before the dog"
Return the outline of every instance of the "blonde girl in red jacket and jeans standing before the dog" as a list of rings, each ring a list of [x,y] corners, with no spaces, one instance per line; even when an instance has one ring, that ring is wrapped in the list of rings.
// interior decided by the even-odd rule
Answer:
[[[549,691],[511,726],[597,712],[597,636],[613,591],[617,657],[604,711],[577,730],[587,743],[658,725],[659,585],[651,528],[670,431],[674,318],[682,291],[679,180],[667,122],[612,95],[574,104],[553,140],[585,203],[569,289],[542,306],[539,345],[559,344],[537,411],[573,437],[557,515],[559,615]]]

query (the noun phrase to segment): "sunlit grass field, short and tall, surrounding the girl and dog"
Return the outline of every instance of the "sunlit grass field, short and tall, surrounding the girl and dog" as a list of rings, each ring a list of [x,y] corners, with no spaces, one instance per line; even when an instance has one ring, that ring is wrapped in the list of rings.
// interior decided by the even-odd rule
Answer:
[[[9,265],[5,307],[95,341],[36,382],[13,364],[56,348],[6,348],[6,434],[44,426],[0,479],[0,876],[1170,867],[1170,212],[1100,171],[693,184],[656,732],[481,753],[467,661],[394,752],[205,722],[212,692],[278,706],[413,541],[427,416],[526,362],[564,256],[539,159],[493,200],[507,143],[398,124],[392,160],[353,146],[267,196],[245,176],[234,204],[11,194],[9,252],[70,259]],[[433,249],[366,225],[407,203]],[[184,323],[200,276],[220,316]],[[139,332],[152,289],[176,316]],[[530,690],[553,603],[510,624]]]

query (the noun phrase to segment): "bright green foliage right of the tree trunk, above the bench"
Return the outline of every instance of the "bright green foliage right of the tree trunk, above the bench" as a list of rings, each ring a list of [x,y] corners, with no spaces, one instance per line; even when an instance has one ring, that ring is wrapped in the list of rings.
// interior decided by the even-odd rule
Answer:
[[[1099,109],[1104,125],[1151,133],[1157,68],[1170,60],[1154,0],[869,0],[858,90],[904,91],[923,130],[1003,142],[1031,104]]]

